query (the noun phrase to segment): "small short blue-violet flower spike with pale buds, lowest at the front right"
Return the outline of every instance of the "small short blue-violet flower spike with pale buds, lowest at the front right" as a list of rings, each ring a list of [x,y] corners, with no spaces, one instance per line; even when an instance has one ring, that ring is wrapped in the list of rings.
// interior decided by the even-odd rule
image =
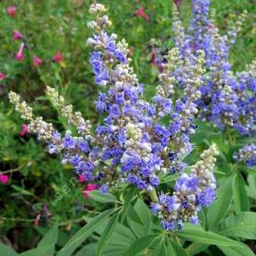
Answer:
[[[181,229],[184,221],[199,222],[198,212],[209,207],[215,199],[216,180],[213,175],[218,150],[215,144],[203,151],[201,160],[192,166],[190,174],[181,175],[171,194],[160,194],[158,202],[151,203],[152,211],[168,230]]]

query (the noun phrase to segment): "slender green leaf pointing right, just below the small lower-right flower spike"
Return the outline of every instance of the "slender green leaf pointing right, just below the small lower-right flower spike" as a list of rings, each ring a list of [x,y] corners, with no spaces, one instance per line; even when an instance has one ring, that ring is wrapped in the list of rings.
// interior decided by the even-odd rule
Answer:
[[[175,235],[195,243],[215,244],[220,246],[238,246],[234,240],[210,231],[183,229],[181,231],[176,231]]]

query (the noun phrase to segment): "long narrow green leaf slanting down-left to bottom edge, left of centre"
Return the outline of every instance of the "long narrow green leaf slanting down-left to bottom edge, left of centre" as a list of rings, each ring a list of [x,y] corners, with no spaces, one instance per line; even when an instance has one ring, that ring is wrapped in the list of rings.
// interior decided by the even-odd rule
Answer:
[[[81,244],[83,241],[91,235],[91,233],[103,222],[106,220],[107,216],[113,211],[113,209],[107,209],[102,212],[95,218],[92,218],[90,222],[83,226],[73,237],[64,245],[64,248],[57,253],[57,256],[69,256],[72,255],[74,250]]]

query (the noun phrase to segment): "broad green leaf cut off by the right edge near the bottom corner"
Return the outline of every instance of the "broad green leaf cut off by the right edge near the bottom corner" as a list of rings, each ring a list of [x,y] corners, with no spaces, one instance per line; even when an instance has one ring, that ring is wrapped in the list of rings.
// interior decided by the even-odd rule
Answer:
[[[220,235],[256,239],[256,212],[229,216],[219,224]]]

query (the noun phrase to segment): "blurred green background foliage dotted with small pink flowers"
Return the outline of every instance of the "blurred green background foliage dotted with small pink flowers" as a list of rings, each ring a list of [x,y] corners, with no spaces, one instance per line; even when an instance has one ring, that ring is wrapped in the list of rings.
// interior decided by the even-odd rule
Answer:
[[[129,43],[135,73],[145,82],[146,97],[151,96],[157,85],[161,55],[174,46],[172,1],[101,2],[109,6],[112,30]],[[188,25],[191,1],[176,2]],[[243,9],[248,11],[230,56],[235,70],[243,70],[255,57],[256,3],[212,3],[218,28],[223,32]],[[62,119],[42,97],[49,85],[97,124],[100,116],[93,105],[97,89],[86,44],[90,34],[86,26],[89,5],[90,1],[82,0],[0,3],[0,238],[5,243],[12,241],[18,252],[33,248],[55,222],[63,226],[58,241],[61,246],[90,213],[102,210],[100,204],[84,197],[85,188],[72,179],[72,172],[47,155],[36,138],[26,133],[26,126],[7,99],[10,90],[20,93],[38,115],[61,129]]]

